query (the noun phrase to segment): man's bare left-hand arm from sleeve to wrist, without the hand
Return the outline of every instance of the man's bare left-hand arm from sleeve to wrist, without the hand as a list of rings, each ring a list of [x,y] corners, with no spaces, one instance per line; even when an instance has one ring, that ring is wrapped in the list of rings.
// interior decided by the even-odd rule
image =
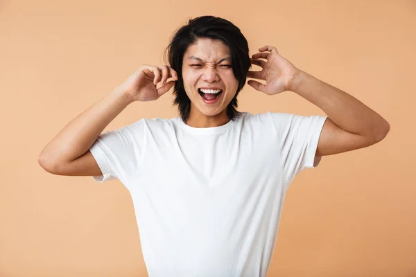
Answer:
[[[71,120],[46,145],[38,162],[44,170],[55,175],[102,175],[89,152],[103,129],[133,102],[122,89],[115,89],[83,113]]]

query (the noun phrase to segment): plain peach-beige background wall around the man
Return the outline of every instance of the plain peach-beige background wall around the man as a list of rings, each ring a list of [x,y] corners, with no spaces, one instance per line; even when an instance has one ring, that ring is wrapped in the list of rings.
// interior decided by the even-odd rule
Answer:
[[[250,54],[276,46],[391,125],[381,143],[295,179],[268,276],[416,276],[416,2],[362,2],[1,1],[0,276],[146,276],[123,185],[51,175],[37,157],[140,64],[161,64],[174,30],[199,15],[229,19]],[[177,116],[172,102],[135,102],[105,130]],[[239,110],[323,115],[248,85]]]

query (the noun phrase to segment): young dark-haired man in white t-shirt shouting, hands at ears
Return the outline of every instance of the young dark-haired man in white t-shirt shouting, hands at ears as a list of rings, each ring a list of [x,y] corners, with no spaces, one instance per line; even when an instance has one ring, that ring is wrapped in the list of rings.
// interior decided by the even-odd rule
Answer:
[[[275,47],[250,59],[245,37],[225,19],[190,20],[168,58],[170,66],[141,66],[73,119],[46,145],[40,165],[128,188],[149,276],[266,276],[295,175],[324,155],[381,141],[389,124]],[[249,71],[251,64],[262,70]],[[247,77],[266,81],[248,84],[270,96],[293,91],[328,117],[241,113],[236,97]],[[180,117],[143,118],[101,134],[130,103],[172,87]]]

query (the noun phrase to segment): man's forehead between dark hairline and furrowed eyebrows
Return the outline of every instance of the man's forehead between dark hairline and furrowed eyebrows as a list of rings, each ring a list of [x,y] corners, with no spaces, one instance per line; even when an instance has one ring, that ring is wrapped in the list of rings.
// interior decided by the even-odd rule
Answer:
[[[184,60],[198,60],[202,62],[219,62],[231,60],[229,47],[218,39],[198,39],[191,44],[184,54]]]

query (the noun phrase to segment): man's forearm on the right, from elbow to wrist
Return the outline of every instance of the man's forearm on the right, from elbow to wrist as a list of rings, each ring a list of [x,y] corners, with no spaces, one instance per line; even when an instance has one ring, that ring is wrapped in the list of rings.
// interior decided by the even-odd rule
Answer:
[[[372,137],[390,129],[388,122],[363,102],[304,71],[295,77],[290,90],[320,107],[347,132]]]

